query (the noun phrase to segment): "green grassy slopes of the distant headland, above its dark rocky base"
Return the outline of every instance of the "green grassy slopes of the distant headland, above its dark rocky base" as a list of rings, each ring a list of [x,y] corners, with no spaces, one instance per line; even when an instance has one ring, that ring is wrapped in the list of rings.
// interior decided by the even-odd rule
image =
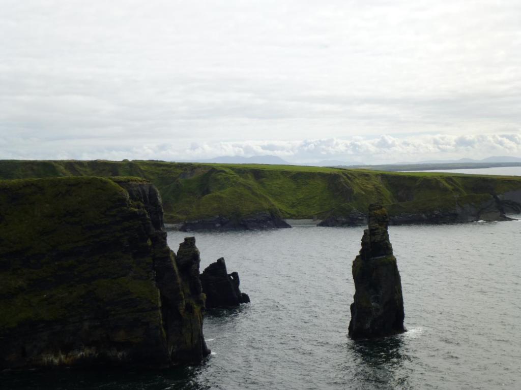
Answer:
[[[261,164],[0,161],[0,179],[53,176],[137,176],[150,180],[162,195],[167,222],[217,215],[237,218],[263,211],[284,218],[326,218],[365,211],[373,202],[405,202],[403,206],[417,207],[418,202],[443,203],[443,199],[521,190],[521,178],[507,176]]]

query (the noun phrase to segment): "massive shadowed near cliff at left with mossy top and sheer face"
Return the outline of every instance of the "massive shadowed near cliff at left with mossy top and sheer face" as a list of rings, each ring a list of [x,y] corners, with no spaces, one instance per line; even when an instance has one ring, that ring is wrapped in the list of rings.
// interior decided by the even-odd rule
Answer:
[[[200,362],[204,295],[180,268],[146,181],[0,181],[0,368]]]

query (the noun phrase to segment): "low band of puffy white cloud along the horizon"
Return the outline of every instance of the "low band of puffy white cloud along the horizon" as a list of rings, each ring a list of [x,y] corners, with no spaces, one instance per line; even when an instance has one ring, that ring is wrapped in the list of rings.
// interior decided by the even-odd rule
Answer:
[[[27,150],[29,152],[20,152]],[[277,155],[294,163],[340,160],[353,163],[391,163],[432,159],[485,158],[521,155],[521,132],[510,134],[416,135],[402,138],[244,140],[162,143],[96,139],[52,140],[0,138],[0,153],[7,159],[151,159],[201,160],[222,155],[251,157]]]

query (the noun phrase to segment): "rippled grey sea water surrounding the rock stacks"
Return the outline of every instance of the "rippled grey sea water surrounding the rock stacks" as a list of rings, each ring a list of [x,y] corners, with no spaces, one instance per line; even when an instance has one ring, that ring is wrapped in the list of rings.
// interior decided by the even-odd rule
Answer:
[[[213,354],[157,372],[3,372],[2,389],[521,388],[521,222],[392,226],[408,332],[347,336],[362,228],[195,233],[251,304],[211,311]],[[169,232],[177,250],[186,233]]]

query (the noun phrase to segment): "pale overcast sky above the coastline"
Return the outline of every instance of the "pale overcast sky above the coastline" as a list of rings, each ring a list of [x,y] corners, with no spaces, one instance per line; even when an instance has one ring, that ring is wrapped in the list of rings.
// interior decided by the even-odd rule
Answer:
[[[519,0],[0,9],[0,159],[521,157]]]

